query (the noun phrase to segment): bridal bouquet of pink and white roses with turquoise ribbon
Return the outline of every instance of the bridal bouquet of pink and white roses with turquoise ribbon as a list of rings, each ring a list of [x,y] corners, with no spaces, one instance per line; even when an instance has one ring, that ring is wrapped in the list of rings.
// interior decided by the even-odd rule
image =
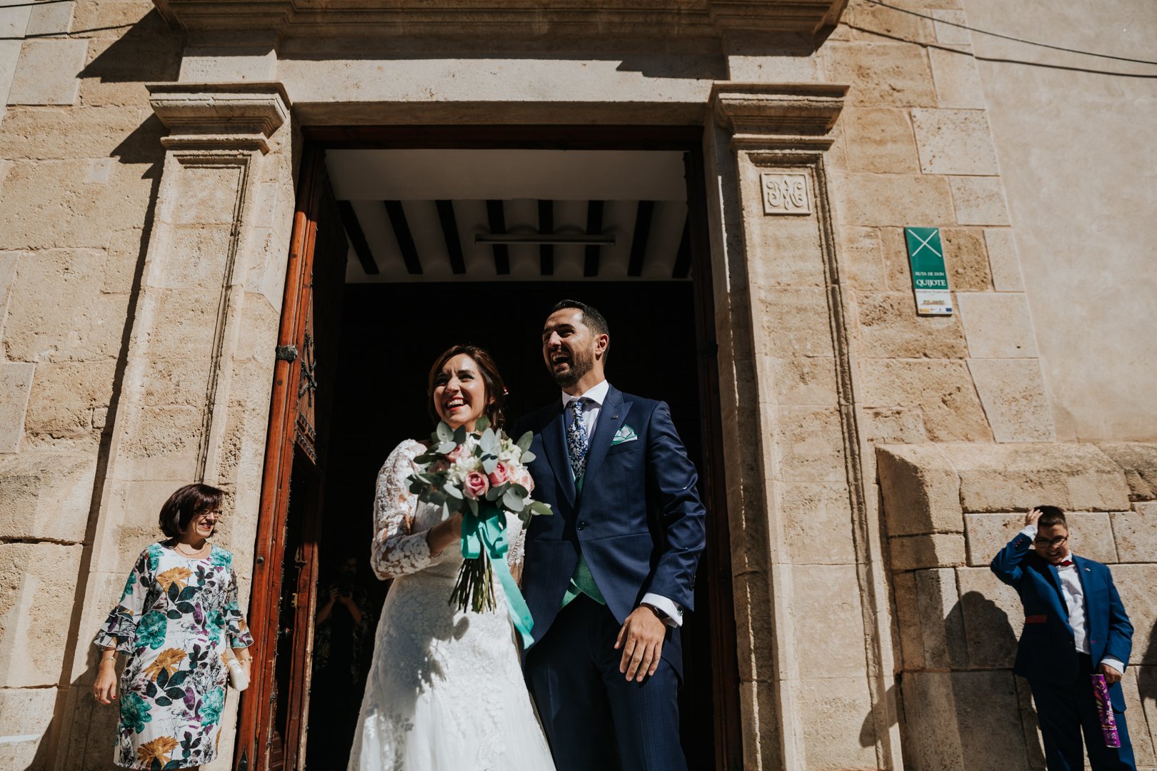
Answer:
[[[498,573],[515,627],[529,644],[530,611],[506,564],[509,543],[506,514],[509,511],[523,525],[533,516],[551,514],[551,507],[530,497],[535,488],[525,464],[530,452],[530,431],[514,442],[503,431],[491,428],[479,417],[474,431],[451,429],[439,423],[430,435],[430,448],[414,459],[410,491],[425,503],[442,506],[442,516],[462,512],[462,569],[450,594],[450,605],[474,613],[493,609],[494,574]]]

